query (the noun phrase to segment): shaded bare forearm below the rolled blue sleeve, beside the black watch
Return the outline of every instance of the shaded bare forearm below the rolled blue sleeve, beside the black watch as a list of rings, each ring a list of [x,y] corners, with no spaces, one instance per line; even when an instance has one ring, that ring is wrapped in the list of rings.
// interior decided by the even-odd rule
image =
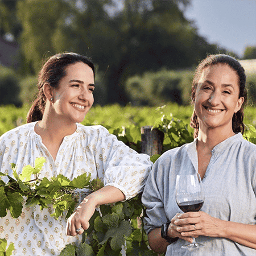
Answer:
[[[161,228],[153,229],[148,233],[148,243],[155,253],[165,253],[167,246],[170,244],[161,237]]]

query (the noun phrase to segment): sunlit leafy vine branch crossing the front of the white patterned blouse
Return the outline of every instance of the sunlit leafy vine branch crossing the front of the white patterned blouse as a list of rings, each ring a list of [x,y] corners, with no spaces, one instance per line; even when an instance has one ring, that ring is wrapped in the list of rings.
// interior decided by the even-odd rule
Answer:
[[[11,164],[13,176],[7,176],[9,181],[5,184],[0,180],[0,217],[5,217],[7,210],[13,218],[18,218],[22,213],[23,197],[26,197],[25,205],[34,207],[40,205],[40,209],[53,205],[54,212],[51,216],[58,218],[67,210],[67,218],[72,214],[77,204],[77,188],[90,188],[90,174],[82,174],[72,181],[59,174],[50,180],[47,177],[39,179],[39,173],[46,161],[44,158],[35,160],[35,167],[30,165],[23,167],[22,174],[16,173],[16,164]],[[31,176],[34,175],[34,179]]]

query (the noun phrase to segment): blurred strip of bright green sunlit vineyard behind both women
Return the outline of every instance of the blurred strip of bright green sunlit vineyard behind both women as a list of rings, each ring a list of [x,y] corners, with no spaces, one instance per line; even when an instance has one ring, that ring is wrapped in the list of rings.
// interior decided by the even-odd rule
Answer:
[[[0,135],[18,125],[26,123],[26,115],[29,106],[16,108],[14,105],[0,107]],[[119,104],[100,106],[92,106],[92,109],[86,115],[84,125],[103,125],[110,131],[122,127],[136,127],[137,135],[140,136],[142,126],[154,126],[163,115],[182,120],[189,126],[191,114],[193,112],[192,105],[182,106],[169,103],[160,107],[155,106],[121,106]],[[114,114],[113,114],[114,113]],[[247,106],[245,109],[246,125],[256,126],[256,108]],[[192,129],[189,127],[192,132]],[[139,138],[138,138],[139,139]]]

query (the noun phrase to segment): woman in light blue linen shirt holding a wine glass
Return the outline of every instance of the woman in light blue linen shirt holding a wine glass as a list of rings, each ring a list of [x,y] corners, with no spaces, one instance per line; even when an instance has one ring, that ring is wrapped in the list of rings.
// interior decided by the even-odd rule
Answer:
[[[166,255],[256,255],[256,145],[243,139],[245,71],[228,55],[209,55],[192,85],[195,140],[156,160],[142,195],[152,250]],[[181,213],[176,175],[199,174],[201,211]],[[161,232],[162,231],[162,232]],[[196,237],[203,247],[181,248]]]

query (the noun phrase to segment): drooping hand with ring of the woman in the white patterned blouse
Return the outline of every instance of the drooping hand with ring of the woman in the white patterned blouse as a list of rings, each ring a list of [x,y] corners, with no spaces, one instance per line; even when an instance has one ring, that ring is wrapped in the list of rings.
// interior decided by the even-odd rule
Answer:
[[[76,208],[75,212],[68,218],[66,233],[67,236],[76,236],[82,234],[88,229],[89,220],[95,212],[96,206],[92,199],[85,197],[81,204]]]

